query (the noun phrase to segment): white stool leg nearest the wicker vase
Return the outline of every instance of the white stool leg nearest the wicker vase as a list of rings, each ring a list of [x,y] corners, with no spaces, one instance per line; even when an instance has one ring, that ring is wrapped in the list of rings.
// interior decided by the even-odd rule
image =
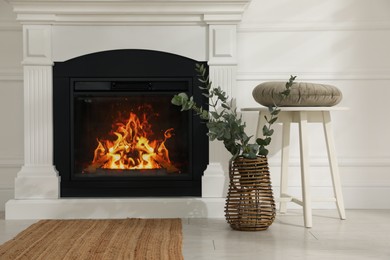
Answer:
[[[283,120],[283,135],[282,135],[282,167],[280,175],[280,213],[287,212],[287,201],[283,200],[288,192],[288,160],[290,158],[290,125],[291,116],[286,116]]]

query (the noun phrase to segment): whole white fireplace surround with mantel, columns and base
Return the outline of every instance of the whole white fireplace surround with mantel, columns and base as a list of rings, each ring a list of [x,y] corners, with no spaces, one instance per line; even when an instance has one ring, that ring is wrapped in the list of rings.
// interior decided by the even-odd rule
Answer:
[[[164,215],[162,201],[178,209],[170,211],[170,216],[189,217],[196,211],[196,217],[223,217],[226,178],[218,161],[223,152],[213,144],[202,179],[202,198],[141,199],[147,209],[140,206],[140,199],[60,198],[60,177],[53,165],[52,67],[56,61],[103,50],[161,50],[207,60],[211,81],[233,96],[237,24],[250,0],[8,2],[23,25],[24,165],[15,179],[15,199],[6,203],[6,218],[127,214],[111,215],[112,208],[129,209],[128,217],[158,217]],[[155,34],[159,34],[157,40]],[[199,205],[205,210],[199,211]],[[91,213],[82,210],[86,208]]]

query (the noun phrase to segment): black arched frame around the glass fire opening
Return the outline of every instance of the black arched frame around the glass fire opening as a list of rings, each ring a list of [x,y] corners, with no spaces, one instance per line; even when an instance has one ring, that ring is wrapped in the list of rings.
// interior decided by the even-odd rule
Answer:
[[[72,98],[75,82],[136,82],[136,91],[165,91],[164,82],[187,82],[169,93],[187,92],[208,109],[198,86],[199,62],[187,57],[152,50],[111,50],[80,56],[53,67],[54,165],[61,176],[61,197],[167,197],[201,196],[201,178],[208,164],[207,127],[192,111],[187,113],[191,131],[190,171],[175,177],[75,178],[72,175]],[[161,83],[162,82],[162,83]],[[130,84],[131,86],[131,84]],[[127,88],[127,89],[126,89]],[[129,84],[118,92],[129,91]],[[139,89],[138,89],[139,88]],[[185,90],[185,89],[184,89]],[[177,107],[177,109],[180,109]]]

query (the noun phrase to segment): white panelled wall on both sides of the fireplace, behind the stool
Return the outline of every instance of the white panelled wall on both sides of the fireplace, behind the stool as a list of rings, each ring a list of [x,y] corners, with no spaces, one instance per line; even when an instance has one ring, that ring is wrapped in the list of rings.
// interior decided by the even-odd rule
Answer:
[[[346,207],[390,208],[390,1],[252,0],[238,32],[238,105],[256,106],[251,92],[257,84],[290,74],[339,87],[340,105],[350,107],[333,114]],[[10,5],[0,0],[0,210],[13,198],[23,160],[21,34]],[[244,117],[254,132],[255,116]],[[310,133],[313,195],[322,196],[331,191],[322,128],[313,125]],[[299,193],[297,141],[292,139],[292,193]],[[278,144],[276,135],[270,156],[275,192]]]

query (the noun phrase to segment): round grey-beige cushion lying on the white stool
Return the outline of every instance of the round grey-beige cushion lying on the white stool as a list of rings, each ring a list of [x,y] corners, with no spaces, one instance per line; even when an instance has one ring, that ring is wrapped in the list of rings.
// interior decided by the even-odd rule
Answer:
[[[296,82],[290,88],[287,98],[279,93],[286,89],[286,82],[264,82],[253,89],[253,98],[263,106],[334,106],[342,99],[341,91],[335,86]]]

